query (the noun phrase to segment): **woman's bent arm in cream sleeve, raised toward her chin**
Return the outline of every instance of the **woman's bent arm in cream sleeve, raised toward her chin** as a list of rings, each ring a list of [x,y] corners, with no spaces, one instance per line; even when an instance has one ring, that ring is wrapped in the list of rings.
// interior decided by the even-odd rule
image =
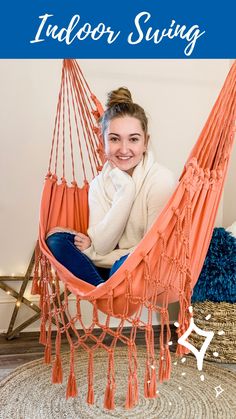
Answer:
[[[126,172],[115,168],[110,172],[115,188],[111,208],[106,211],[96,187],[92,183],[89,191],[88,235],[94,251],[106,255],[115,249],[126,226],[135,198],[135,184]]]

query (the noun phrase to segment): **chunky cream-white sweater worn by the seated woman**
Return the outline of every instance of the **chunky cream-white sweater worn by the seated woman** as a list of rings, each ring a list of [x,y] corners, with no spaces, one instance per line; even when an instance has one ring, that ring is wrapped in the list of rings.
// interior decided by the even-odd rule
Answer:
[[[83,253],[96,266],[110,268],[131,253],[160,214],[176,180],[166,167],[144,154],[132,177],[107,162],[89,189],[89,228],[92,245]]]

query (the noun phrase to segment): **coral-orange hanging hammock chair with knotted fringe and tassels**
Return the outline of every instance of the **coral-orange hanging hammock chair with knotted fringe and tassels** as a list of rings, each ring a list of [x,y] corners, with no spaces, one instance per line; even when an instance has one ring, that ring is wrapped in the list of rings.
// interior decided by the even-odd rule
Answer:
[[[89,182],[105,162],[97,124],[103,113],[102,105],[90,91],[77,61],[63,61],[49,167],[42,193],[32,293],[40,295],[40,342],[45,345],[46,363],[51,363],[52,322],[57,326],[53,383],[62,382],[62,335],[67,337],[70,344],[67,398],[78,394],[74,363],[76,349],[81,348],[88,353],[87,402],[94,403],[94,356],[96,349],[100,348],[108,356],[104,407],[114,408],[114,354],[119,341],[127,345],[125,407],[133,407],[138,402],[138,329],[145,333],[147,349],[145,397],[157,397],[157,378],[160,382],[170,378],[168,304],[179,301],[177,333],[180,337],[187,330],[192,316],[189,310],[191,294],[210,244],[226,177],[235,131],[235,93],[236,63],[232,65],[165,208],[119,270],[102,286],[94,287],[61,265],[45,243],[47,232],[55,226],[86,234]],[[66,139],[69,140],[68,145]],[[70,151],[71,185],[66,181],[66,168],[69,165],[66,150]],[[79,175],[76,174],[76,168],[79,169]],[[58,181],[59,173],[62,175],[61,181]],[[70,293],[76,300],[73,312],[68,299]],[[90,302],[92,306],[89,327],[83,321],[82,301]],[[99,319],[99,310],[106,315],[104,322]],[[147,320],[142,318],[144,311]],[[161,324],[158,360],[152,326],[153,317],[156,318],[157,314],[160,315]],[[112,317],[118,321],[116,329],[111,327]],[[124,333],[124,326],[127,325],[130,326],[128,336]],[[99,335],[95,333],[96,328],[101,331]],[[188,350],[178,345],[176,353],[181,356]]]

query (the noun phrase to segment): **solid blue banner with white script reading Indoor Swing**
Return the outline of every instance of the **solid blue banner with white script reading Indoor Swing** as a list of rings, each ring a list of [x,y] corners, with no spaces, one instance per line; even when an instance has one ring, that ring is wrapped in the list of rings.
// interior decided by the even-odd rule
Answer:
[[[0,58],[235,58],[235,4],[9,0]]]

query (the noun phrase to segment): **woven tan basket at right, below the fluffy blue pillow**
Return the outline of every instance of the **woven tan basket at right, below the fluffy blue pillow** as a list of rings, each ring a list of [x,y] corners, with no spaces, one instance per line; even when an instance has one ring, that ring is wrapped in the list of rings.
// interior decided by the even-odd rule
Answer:
[[[222,363],[236,363],[236,304],[204,301],[193,303],[194,323],[200,329],[212,330],[214,337],[207,348],[205,359]],[[206,320],[206,317],[211,317]],[[224,332],[219,333],[219,332]],[[205,337],[191,333],[192,343],[200,350]],[[215,355],[214,355],[215,353]],[[218,353],[218,356],[216,356]]]

